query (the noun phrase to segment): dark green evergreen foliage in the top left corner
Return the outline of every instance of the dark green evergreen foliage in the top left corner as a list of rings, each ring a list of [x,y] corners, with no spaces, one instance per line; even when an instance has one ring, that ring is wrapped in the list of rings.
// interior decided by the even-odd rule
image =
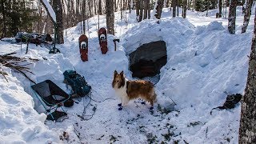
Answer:
[[[31,32],[38,19],[31,0],[0,0],[0,36],[12,37],[18,31]]]

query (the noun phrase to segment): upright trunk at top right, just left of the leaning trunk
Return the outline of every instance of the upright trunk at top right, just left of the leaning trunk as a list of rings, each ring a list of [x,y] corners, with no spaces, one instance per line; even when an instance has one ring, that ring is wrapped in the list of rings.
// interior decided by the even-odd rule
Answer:
[[[229,22],[228,30],[230,34],[235,34],[235,18],[238,0],[230,0],[230,12],[229,12]]]

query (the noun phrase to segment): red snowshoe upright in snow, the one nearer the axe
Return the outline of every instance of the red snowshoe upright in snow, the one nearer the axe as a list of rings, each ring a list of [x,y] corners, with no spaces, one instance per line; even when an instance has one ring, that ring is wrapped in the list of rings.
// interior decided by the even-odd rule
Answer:
[[[107,49],[106,29],[104,27],[98,30],[98,42],[99,42],[99,46],[101,46],[102,54],[106,54],[108,49]]]

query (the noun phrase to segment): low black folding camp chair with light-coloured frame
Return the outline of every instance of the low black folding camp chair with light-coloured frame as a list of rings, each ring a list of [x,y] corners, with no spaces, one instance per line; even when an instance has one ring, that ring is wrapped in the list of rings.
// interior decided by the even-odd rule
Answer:
[[[31,86],[31,88],[42,103],[42,106],[46,109],[46,119],[55,121],[66,115],[65,110],[62,109],[62,105],[70,99],[70,95],[66,94],[66,92],[54,82],[46,80]],[[47,109],[46,106],[50,108]],[[62,111],[58,111],[58,107],[60,107]]]

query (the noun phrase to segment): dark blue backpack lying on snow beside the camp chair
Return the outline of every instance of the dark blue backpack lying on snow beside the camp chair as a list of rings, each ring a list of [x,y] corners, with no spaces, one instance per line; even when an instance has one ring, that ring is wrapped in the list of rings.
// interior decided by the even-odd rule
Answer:
[[[64,82],[72,87],[73,93],[79,97],[84,97],[90,92],[89,86],[84,77],[75,70],[66,70],[64,73]]]

